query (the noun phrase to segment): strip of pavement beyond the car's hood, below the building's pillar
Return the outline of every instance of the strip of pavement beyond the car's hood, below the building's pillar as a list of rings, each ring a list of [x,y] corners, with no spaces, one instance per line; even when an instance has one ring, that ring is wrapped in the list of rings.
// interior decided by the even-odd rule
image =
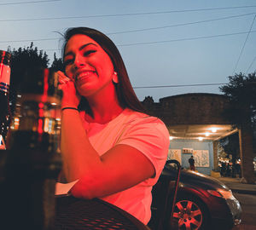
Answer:
[[[247,184],[242,182],[241,178],[232,177],[220,177],[214,176],[218,181],[224,182],[224,184],[231,189],[233,193],[244,193],[256,195],[256,183]]]

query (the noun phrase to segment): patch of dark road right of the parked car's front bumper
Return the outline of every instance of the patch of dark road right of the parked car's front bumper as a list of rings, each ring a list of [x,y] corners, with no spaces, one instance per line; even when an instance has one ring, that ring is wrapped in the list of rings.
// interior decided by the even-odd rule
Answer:
[[[256,195],[234,193],[241,204],[241,224],[232,230],[254,230],[256,229]]]

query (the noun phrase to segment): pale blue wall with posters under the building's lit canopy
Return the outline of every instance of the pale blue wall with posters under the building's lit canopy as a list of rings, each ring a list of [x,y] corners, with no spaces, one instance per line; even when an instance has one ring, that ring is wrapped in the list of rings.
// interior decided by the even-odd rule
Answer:
[[[211,175],[213,170],[213,144],[212,141],[193,141],[193,140],[172,140],[170,141],[169,149],[181,150],[181,166],[189,169],[189,158],[191,153],[183,153],[183,148],[192,148],[193,150],[208,150],[209,151],[209,167],[195,167],[198,172]]]

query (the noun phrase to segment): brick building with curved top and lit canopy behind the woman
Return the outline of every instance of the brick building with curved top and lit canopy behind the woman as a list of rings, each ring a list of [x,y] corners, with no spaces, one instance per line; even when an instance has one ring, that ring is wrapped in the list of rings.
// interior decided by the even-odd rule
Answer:
[[[161,98],[159,102],[148,96],[143,105],[149,113],[162,119],[169,130],[168,157],[177,158],[184,168],[189,168],[188,159],[193,155],[196,170],[207,175],[218,169],[218,141],[239,132],[242,176],[250,177],[253,152],[245,147],[251,144],[240,129],[224,118],[224,109],[229,106],[226,96],[184,94]]]

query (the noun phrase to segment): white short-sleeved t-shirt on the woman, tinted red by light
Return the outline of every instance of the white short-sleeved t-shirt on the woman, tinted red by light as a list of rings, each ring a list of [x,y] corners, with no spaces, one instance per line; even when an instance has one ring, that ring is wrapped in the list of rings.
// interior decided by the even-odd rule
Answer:
[[[80,115],[90,143],[99,155],[116,145],[125,144],[143,152],[154,165],[154,178],[102,198],[147,224],[151,217],[151,190],[166,164],[169,148],[169,132],[166,125],[159,118],[130,109],[125,109],[108,124],[87,123],[84,120],[84,112]],[[117,164],[122,164],[122,162],[117,162]]]

